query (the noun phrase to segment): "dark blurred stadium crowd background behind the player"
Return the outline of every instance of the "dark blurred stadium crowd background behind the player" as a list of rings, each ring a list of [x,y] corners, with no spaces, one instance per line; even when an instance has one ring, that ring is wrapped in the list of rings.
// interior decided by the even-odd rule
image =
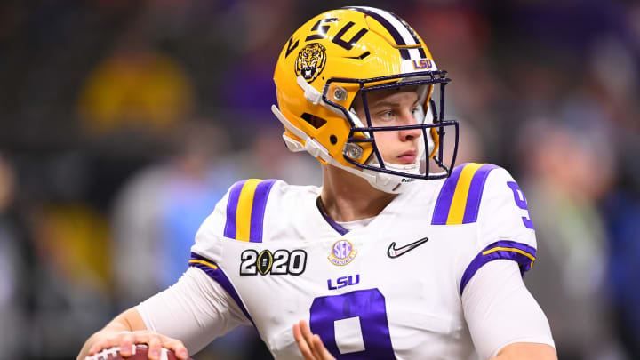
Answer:
[[[351,3],[349,3],[351,4]],[[370,1],[449,70],[458,164],[527,195],[525,277],[561,359],[640,358],[640,4]],[[288,36],[338,1],[0,4],[0,348],[75,358],[175,282],[236,180],[320,183],[269,107]],[[269,358],[252,329],[196,359]]]

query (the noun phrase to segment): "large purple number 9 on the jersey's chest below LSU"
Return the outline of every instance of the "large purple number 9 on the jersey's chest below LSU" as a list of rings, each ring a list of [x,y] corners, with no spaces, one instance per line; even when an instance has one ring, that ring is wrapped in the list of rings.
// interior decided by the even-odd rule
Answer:
[[[396,358],[385,298],[378,289],[318,297],[309,312],[311,332],[320,335],[324,347],[337,359]]]

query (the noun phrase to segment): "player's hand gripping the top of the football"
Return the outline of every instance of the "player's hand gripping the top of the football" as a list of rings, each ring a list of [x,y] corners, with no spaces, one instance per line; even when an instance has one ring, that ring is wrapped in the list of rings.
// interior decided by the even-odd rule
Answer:
[[[147,344],[148,358],[151,360],[160,359],[160,348],[172,350],[180,360],[188,359],[188,351],[182,341],[148,330],[119,332],[116,336],[105,337],[93,344],[89,350],[89,355],[96,355],[105,348],[120,347],[120,355],[128,357],[133,355],[134,344]]]

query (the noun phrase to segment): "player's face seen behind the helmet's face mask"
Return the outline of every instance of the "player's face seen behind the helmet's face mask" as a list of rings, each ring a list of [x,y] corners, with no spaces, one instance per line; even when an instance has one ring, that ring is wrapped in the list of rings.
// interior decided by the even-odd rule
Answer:
[[[404,126],[418,124],[415,118],[418,109],[418,93],[415,87],[386,89],[368,92],[369,115],[372,126]],[[354,105],[357,116],[364,121],[362,101]],[[391,164],[414,164],[419,156],[420,129],[373,133],[382,159]]]

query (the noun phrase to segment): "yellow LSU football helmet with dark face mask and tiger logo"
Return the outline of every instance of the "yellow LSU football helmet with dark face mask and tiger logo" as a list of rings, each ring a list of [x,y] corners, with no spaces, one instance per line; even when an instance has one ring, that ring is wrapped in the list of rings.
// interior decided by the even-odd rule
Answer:
[[[399,193],[415,179],[441,179],[451,174],[458,148],[458,123],[444,121],[444,85],[420,36],[391,12],[372,7],[345,7],[324,12],[302,25],[284,44],[274,81],[278,106],[271,109],[284,125],[283,138],[292,151],[306,150],[368,180],[374,188]],[[439,114],[431,99],[440,89]],[[418,124],[373,127],[366,93],[413,86],[418,92]],[[353,110],[356,96],[366,119]],[[452,159],[443,162],[444,127],[455,129]],[[415,164],[385,164],[374,132],[422,131],[421,154]],[[423,146],[422,146],[423,145]],[[429,165],[429,163],[436,166]],[[429,172],[429,167],[437,172]]]

